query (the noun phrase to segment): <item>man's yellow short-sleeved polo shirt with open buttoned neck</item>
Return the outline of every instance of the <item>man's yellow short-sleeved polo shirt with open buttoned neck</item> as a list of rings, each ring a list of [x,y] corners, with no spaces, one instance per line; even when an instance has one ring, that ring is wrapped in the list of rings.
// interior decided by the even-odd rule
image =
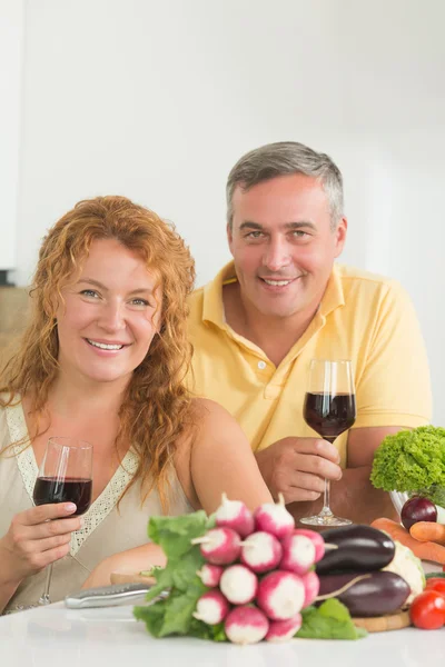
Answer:
[[[432,415],[429,370],[419,325],[394,280],[335,265],[320,307],[278,368],[225,321],[222,285],[233,262],[190,297],[194,358],[189,386],[222,405],[254,451],[287,436],[315,437],[303,418],[313,358],[352,359],[357,419],[353,428],[416,427]],[[347,432],[337,438],[342,466]]]

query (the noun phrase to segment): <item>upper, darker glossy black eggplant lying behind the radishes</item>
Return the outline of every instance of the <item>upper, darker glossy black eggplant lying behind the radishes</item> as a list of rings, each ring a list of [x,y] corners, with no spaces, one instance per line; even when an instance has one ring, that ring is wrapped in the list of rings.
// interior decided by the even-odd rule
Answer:
[[[386,532],[360,524],[329,528],[322,532],[322,537],[338,549],[326,550],[316,566],[317,575],[379,570],[389,565],[396,550]]]

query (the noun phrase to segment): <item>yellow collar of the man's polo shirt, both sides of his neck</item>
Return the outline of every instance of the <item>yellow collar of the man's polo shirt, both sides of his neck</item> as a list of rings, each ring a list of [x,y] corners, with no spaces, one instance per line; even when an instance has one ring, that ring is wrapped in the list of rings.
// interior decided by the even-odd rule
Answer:
[[[222,286],[237,279],[234,261],[227,263],[204,288],[202,321],[212,322],[224,329],[226,321],[224,317]],[[339,306],[345,305],[345,295],[342,286],[342,278],[337,265],[334,265],[333,272],[328,280],[325,295],[318,313],[326,317]]]

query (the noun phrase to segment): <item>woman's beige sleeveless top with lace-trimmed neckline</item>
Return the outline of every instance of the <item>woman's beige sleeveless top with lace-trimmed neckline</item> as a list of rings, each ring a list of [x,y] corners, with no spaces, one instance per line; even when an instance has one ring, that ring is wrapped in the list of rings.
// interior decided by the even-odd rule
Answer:
[[[0,451],[27,437],[21,404],[0,407]],[[107,556],[148,541],[149,517],[162,514],[158,494],[152,491],[141,506],[140,485],[135,484],[117,508],[137,465],[137,455],[130,449],[107,487],[83,515],[83,527],[71,535],[69,555],[53,565],[51,601],[78,590],[89,573]],[[16,446],[13,451],[0,456],[0,537],[8,531],[16,514],[33,506],[32,491],[37,475],[32,447]],[[171,487],[170,514],[177,516],[192,511],[176,475]],[[36,603],[43,584],[44,571],[24,579],[3,614]]]

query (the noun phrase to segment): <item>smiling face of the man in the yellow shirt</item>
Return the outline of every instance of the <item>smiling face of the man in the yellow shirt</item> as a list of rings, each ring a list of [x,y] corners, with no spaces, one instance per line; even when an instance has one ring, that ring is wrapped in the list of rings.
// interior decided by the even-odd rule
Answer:
[[[227,233],[245,306],[274,318],[315,310],[347,228],[343,218],[333,229],[319,181],[295,173],[238,186],[233,210]]]

